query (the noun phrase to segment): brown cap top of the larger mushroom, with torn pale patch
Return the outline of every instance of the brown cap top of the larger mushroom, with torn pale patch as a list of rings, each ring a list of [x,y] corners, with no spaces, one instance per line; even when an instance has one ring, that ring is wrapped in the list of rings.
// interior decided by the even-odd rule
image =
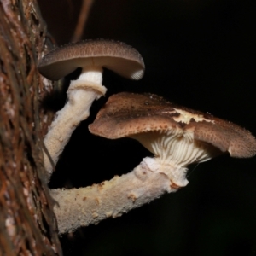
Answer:
[[[148,131],[192,132],[195,140],[229,152],[230,156],[242,158],[256,154],[256,139],[249,131],[153,94],[124,92],[109,97],[89,129],[93,134],[110,139],[133,137]]]

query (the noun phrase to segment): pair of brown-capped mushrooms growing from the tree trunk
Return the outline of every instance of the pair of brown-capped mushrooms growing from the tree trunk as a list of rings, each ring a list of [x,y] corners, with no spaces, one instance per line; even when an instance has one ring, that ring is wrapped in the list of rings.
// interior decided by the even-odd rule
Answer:
[[[103,39],[55,49],[38,63],[39,72],[50,80],[61,79],[78,67],[82,72],[70,83],[67,103],[56,113],[44,137],[48,180],[74,129],[88,118],[92,102],[106,93],[103,68],[135,80],[143,77],[145,68],[136,49]],[[132,172],[98,185],[52,189],[51,195],[58,202],[54,211],[60,234],[119,217],[166,192],[177,191],[188,183],[189,164],[224,153],[240,158],[256,154],[256,139],[249,131],[153,94],[123,92],[110,96],[89,130],[109,139],[134,138],[154,157],[146,157]]]

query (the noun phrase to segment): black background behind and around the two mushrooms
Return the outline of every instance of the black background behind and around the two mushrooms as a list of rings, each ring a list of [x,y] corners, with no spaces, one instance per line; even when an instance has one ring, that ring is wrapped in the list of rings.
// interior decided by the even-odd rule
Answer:
[[[81,1],[39,2],[57,44],[67,44]],[[255,1],[96,0],[83,38],[131,44],[146,73],[138,82],[104,73],[107,96],[74,132],[50,186],[101,183],[150,155],[131,139],[110,141],[88,131],[108,96],[120,91],[165,96],[256,135],[255,12]],[[65,91],[59,96],[55,108],[63,106]],[[189,185],[177,193],[62,236],[64,255],[256,255],[255,166],[255,158],[228,156],[190,166]]]

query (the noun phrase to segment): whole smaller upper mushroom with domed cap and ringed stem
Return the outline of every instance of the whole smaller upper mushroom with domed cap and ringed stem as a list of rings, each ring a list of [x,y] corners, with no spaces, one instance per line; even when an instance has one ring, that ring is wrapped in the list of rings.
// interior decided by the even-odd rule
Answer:
[[[106,93],[102,85],[103,67],[127,79],[141,79],[144,73],[142,56],[131,46],[110,40],[88,40],[54,49],[38,62],[38,70],[45,78],[58,80],[78,67],[82,72],[71,81],[67,90],[68,101],[49,127],[44,138],[45,147],[53,161],[66,146],[73,130],[90,114],[95,99]],[[53,170],[49,157],[44,154],[44,166],[49,176]]]

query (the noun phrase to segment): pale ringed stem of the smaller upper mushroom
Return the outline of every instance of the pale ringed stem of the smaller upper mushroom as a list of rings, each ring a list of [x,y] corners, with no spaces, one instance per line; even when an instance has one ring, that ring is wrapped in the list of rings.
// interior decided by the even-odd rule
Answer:
[[[44,137],[44,145],[52,160],[51,162],[48,155],[44,153],[44,167],[48,178],[73,131],[90,115],[92,102],[104,95],[106,90],[102,86],[102,68],[83,72],[78,80],[71,82],[67,90],[68,101],[64,108],[56,113],[55,120]]]

